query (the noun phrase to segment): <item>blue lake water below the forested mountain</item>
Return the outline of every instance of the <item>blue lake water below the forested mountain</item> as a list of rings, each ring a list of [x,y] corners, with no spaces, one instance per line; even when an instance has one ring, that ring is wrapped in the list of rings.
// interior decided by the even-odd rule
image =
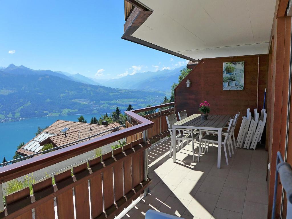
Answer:
[[[37,131],[37,127],[44,128],[53,124],[56,120],[77,121],[80,115],[67,115],[67,116],[50,116],[50,117],[37,117],[31,119],[23,119],[15,122],[0,123],[0,163],[3,157],[7,161],[11,160],[15,154],[16,147],[20,142],[27,143],[31,140]],[[97,119],[101,114],[87,114],[83,115],[89,123],[92,117]]]

